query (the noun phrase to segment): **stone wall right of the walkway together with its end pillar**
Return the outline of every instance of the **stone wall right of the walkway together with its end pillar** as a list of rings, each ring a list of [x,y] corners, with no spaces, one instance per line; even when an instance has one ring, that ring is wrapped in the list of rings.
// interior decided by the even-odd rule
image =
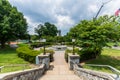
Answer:
[[[115,75],[113,74],[107,74],[103,72],[80,68],[78,66],[78,55],[69,55],[68,64],[70,70],[74,70],[74,73],[78,75],[81,78],[81,80],[117,80],[115,79]]]

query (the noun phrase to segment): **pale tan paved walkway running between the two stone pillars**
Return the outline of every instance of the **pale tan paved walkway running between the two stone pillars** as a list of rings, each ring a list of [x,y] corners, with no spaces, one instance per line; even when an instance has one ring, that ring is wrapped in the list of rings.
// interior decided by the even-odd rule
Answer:
[[[64,51],[55,51],[54,62],[39,80],[80,80],[80,78],[69,70],[64,59]]]

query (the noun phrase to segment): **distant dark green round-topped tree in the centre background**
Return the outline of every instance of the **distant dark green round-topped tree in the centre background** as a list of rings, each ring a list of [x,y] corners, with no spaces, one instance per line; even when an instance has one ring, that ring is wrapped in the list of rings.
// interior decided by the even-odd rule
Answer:
[[[44,25],[39,24],[37,28],[35,28],[35,32],[38,34],[39,38],[43,36],[56,36],[57,35],[57,27],[54,24],[49,22],[44,23]]]

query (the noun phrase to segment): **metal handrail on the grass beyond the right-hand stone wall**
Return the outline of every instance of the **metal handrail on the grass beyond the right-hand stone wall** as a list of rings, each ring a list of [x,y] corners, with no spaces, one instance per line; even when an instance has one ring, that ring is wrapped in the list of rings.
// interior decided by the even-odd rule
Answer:
[[[110,65],[96,65],[96,64],[85,64],[87,66],[97,66],[97,67],[108,67],[112,70],[113,73],[117,75],[116,80],[120,80],[120,71]]]

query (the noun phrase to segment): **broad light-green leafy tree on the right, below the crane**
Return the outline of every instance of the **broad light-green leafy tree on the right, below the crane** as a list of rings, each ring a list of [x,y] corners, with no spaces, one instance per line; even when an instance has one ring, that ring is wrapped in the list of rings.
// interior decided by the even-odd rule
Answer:
[[[81,58],[96,58],[101,54],[108,41],[117,41],[120,37],[120,23],[114,16],[102,16],[96,20],[83,20],[71,28],[69,36],[75,36],[82,50]]]

